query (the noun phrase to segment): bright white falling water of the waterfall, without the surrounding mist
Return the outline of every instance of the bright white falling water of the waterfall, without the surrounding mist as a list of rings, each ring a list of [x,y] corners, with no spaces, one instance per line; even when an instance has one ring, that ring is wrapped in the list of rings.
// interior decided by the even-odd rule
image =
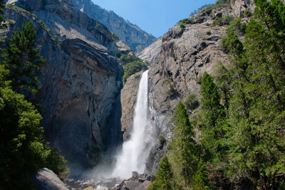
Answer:
[[[137,102],[135,105],[135,115],[133,120],[133,130],[130,140],[123,143],[123,149],[117,156],[117,162],[113,169],[112,176],[128,178],[132,176],[132,171],[142,173],[145,169],[145,149],[143,148],[145,137],[147,136],[145,127],[147,126],[148,112],[148,80],[146,70],[142,73],[138,88]]]

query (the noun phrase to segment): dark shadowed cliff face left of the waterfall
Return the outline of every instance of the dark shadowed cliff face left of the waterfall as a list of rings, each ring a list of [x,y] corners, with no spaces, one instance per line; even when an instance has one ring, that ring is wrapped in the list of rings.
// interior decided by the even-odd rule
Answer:
[[[100,158],[99,152],[123,140],[123,69],[115,58],[122,47],[118,48],[118,40],[105,26],[67,0],[13,2],[30,12],[7,7],[5,18],[16,23],[6,35],[33,21],[38,48],[46,58],[37,74],[46,137],[70,164],[90,167]]]

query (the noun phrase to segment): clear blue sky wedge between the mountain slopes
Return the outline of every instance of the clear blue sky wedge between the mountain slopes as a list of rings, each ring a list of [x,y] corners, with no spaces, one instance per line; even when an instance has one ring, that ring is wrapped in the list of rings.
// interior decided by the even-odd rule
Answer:
[[[142,30],[160,37],[192,11],[216,0],[92,0],[108,11],[138,25]]]

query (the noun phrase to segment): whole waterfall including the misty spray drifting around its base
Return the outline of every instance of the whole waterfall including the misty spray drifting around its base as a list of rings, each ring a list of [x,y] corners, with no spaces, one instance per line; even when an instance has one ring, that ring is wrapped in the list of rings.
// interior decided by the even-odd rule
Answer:
[[[128,179],[133,171],[143,174],[146,167],[146,160],[151,147],[157,141],[157,125],[149,117],[156,118],[152,108],[152,97],[148,93],[148,70],[142,73],[138,87],[135,103],[133,127],[130,133],[130,140],[123,142],[123,146],[112,158],[114,162],[102,162],[86,176],[92,179],[96,177],[102,181],[108,179]],[[149,102],[150,98],[150,102]],[[150,104],[150,105],[149,105]],[[107,155],[110,158],[110,154]],[[109,160],[110,161],[110,160]]]

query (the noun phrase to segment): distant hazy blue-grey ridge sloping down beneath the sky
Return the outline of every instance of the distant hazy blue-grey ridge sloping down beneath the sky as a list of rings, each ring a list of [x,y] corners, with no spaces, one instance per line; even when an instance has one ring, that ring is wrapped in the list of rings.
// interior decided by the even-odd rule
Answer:
[[[110,31],[118,35],[120,40],[127,43],[135,52],[142,51],[143,48],[150,46],[157,40],[154,36],[142,31],[138,26],[125,21],[113,11],[106,11],[93,4],[91,0],[72,0],[72,2],[83,13],[107,26]]]

